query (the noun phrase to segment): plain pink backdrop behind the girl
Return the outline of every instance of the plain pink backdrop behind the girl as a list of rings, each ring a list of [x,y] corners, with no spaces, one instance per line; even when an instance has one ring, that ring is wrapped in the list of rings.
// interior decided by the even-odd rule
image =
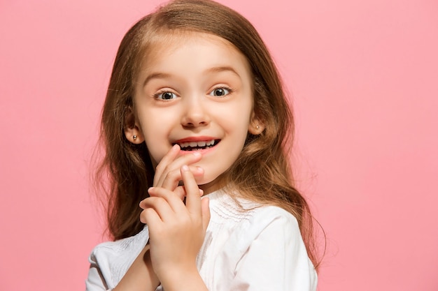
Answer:
[[[438,290],[437,1],[220,2],[294,98],[299,186],[327,233],[319,290]],[[0,290],[85,288],[112,61],[158,3],[0,2]]]

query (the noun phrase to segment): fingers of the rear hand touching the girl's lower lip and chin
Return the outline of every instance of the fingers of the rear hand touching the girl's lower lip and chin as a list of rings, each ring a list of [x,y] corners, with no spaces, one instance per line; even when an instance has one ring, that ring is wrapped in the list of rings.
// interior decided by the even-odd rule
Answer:
[[[164,169],[160,169],[160,174],[155,172],[154,186],[163,187],[169,190],[174,190],[176,186],[178,186],[178,182],[181,181],[181,172],[180,169],[183,165],[191,165],[192,163],[196,163],[200,161],[202,155],[196,151],[192,154],[186,154],[184,156],[180,156],[171,163],[166,164],[168,161],[164,161],[164,163],[160,162],[157,167],[164,167]],[[193,173],[197,176],[204,174],[204,170],[201,167],[192,167]]]

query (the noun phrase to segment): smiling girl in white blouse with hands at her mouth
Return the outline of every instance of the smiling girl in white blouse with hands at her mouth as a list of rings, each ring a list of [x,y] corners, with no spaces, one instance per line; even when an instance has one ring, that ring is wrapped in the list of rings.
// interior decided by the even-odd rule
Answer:
[[[137,22],[102,116],[115,241],[92,251],[87,290],[316,290],[288,108],[235,11],[181,0]]]

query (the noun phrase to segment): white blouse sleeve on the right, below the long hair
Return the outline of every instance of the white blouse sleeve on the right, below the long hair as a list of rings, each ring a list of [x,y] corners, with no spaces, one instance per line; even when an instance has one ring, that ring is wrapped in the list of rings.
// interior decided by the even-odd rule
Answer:
[[[236,265],[230,290],[316,290],[316,271],[295,217],[282,213],[267,222],[260,216],[251,225],[255,230],[249,232],[256,233],[248,234],[254,239]]]

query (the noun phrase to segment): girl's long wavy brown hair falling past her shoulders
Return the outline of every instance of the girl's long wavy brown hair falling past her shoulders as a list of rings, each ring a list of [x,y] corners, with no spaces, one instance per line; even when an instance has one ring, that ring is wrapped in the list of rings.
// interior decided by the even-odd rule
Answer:
[[[146,144],[129,142],[127,114],[135,107],[135,81],[148,47],[166,33],[202,32],[220,36],[240,50],[253,74],[254,111],[264,124],[260,135],[248,133],[236,162],[221,175],[223,185],[241,197],[271,204],[297,218],[309,258],[318,269],[313,217],[293,185],[290,167],[294,123],[274,61],[252,24],[236,11],[209,0],[176,0],[143,17],[120,43],[101,118],[104,157],[96,181],[104,186],[108,231],[113,239],[138,233],[139,202],[148,197],[155,169]],[[235,191],[234,191],[235,190]]]

